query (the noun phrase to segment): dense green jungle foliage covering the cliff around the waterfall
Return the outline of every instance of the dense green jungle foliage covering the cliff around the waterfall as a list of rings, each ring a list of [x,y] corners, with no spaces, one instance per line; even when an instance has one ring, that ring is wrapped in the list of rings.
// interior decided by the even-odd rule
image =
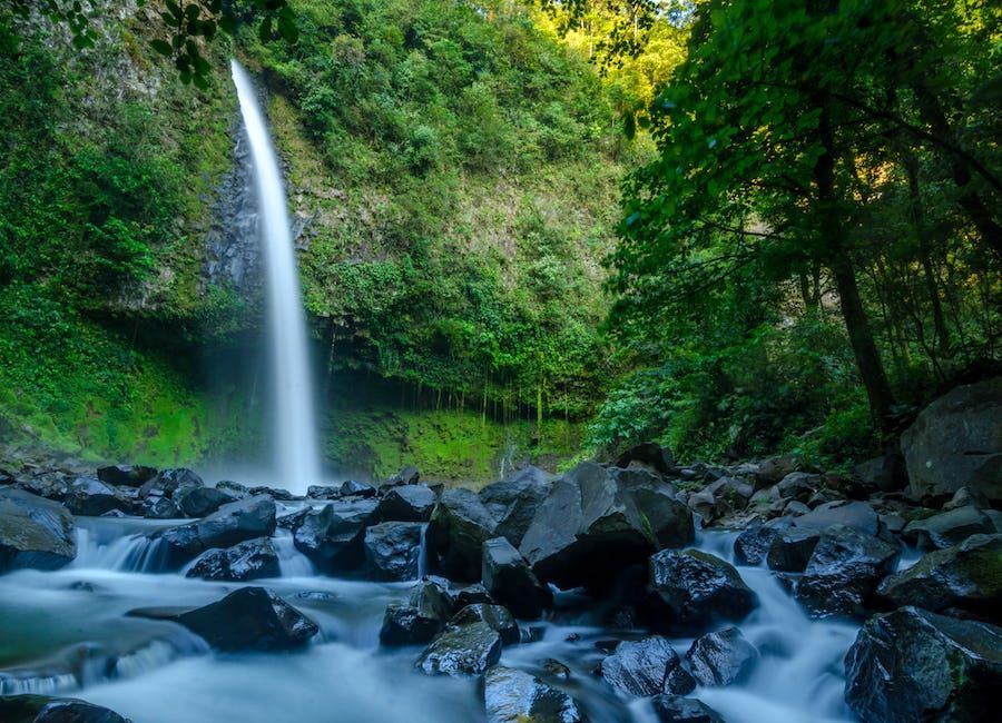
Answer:
[[[992,3],[85,4],[0,3],[11,439],[255,446],[243,377],[199,363],[259,324],[205,274],[230,55],[285,164],[336,464],[848,465],[998,364]]]

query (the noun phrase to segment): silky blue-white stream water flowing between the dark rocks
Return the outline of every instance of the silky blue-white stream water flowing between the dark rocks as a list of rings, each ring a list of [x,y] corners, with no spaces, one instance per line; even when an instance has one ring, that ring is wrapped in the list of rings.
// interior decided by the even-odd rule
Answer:
[[[279,529],[282,576],[250,584],[285,597],[321,634],[296,653],[213,653],[178,625],[126,613],[204,605],[243,583],[145,572],[157,566],[146,534],[177,522],[81,517],[78,524],[79,555],[70,567],[19,571],[0,584],[2,693],[78,696],[136,723],[484,720],[477,681],[426,677],[413,668],[420,647],[380,647],[383,612],[405,600],[412,583],[315,575]],[[731,534],[708,533],[697,546],[730,559],[733,541]],[[692,695],[729,723],[853,720],[842,700],[842,660],[856,628],[807,618],[767,570],[739,571],[760,600],[740,627],[762,658],[745,683]],[[558,600],[560,622],[525,623],[538,626],[542,638],[505,647],[502,664],[541,673],[543,661],[557,658],[570,667],[567,687],[592,723],[655,722],[647,701],[616,695],[592,673],[603,655],[595,643],[613,635],[598,624],[595,607],[573,593]],[[671,642],[685,654],[691,640]]]

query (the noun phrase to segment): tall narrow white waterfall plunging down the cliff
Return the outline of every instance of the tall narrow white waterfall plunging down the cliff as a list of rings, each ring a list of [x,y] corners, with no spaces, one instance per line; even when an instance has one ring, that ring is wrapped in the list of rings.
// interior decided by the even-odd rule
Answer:
[[[308,485],[320,483],[322,475],[306,344],[306,318],[296,273],[285,189],[267,123],[257,103],[254,83],[236,60],[232,65],[240,113],[250,141],[261,209],[259,232],[267,276],[268,336],[275,387],[273,444],[276,474],[283,486],[305,492]]]

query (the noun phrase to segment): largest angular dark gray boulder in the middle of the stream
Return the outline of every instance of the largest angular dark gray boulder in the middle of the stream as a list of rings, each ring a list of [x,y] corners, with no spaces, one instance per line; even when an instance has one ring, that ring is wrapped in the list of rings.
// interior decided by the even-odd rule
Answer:
[[[582,463],[552,483],[519,552],[542,582],[601,590],[625,567],[694,534],[670,485],[625,486],[608,469]]]

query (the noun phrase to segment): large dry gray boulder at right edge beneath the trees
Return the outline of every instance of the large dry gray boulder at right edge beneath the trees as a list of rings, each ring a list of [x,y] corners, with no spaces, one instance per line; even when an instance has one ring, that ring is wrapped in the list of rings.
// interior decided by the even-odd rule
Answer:
[[[916,496],[963,486],[1002,502],[1002,377],[959,386],[930,404],[901,436]]]

